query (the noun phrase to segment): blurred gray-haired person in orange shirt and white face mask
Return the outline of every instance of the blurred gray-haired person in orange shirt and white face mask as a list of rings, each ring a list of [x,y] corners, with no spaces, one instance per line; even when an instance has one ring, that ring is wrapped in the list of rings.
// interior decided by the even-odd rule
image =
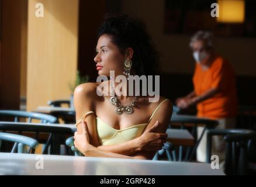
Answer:
[[[234,70],[231,64],[213,50],[212,34],[199,31],[191,39],[190,47],[196,61],[193,75],[194,90],[176,103],[181,109],[196,105],[198,117],[219,121],[217,128],[234,128],[237,113],[237,94]],[[198,128],[198,134],[202,128]],[[197,160],[206,161],[206,133],[198,150]],[[214,137],[213,154],[224,160],[223,137]],[[224,162],[223,162],[224,164]],[[222,166],[223,167],[223,166]]]

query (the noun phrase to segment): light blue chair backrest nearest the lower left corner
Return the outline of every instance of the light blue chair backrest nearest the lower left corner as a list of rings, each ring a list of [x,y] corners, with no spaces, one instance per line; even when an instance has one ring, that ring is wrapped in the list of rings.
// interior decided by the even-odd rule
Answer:
[[[11,141],[14,143],[11,153],[30,153],[30,150],[35,149],[39,145],[37,140],[33,138],[11,133],[0,133],[0,148],[2,141]],[[29,146],[30,149],[27,150],[26,146]]]

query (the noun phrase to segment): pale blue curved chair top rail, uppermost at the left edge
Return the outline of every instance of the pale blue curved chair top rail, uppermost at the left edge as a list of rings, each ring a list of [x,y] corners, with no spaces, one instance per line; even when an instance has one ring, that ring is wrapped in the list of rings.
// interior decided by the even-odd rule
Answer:
[[[0,110],[0,116],[12,116],[14,117],[14,122],[19,122],[20,117],[26,117],[29,123],[32,122],[32,119],[39,119],[41,120],[40,123],[57,123],[58,121],[56,117],[51,115],[19,110]]]

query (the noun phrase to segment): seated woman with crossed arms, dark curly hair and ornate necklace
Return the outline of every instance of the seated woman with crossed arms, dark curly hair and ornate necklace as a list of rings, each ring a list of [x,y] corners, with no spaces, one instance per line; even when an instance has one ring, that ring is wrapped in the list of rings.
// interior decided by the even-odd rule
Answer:
[[[99,75],[109,77],[110,71],[115,71],[115,76],[154,74],[158,54],[139,20],[110,17],[98,36],[94,61]],[[171,102],[160,97],[150,103],[142,96],[116,93],[99,96],[100,84],[109,86],[108,93],[115,92],[116,85],[110,81],[82,84],[74,91],[75,147],[90,157],[152,159],[166,141]],[[128,93],[128,86],[122,92]]]

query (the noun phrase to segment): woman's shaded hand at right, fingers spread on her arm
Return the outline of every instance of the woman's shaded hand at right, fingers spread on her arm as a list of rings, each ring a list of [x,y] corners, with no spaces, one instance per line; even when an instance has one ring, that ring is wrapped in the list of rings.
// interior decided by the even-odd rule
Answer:
[[[143,134],[139,137],[139,148],[145,151],[157,151],[161,150],[162,146],[166,142],[167,134],[165,133],[154,133],[157,129],[159,122],[146,129]]]

